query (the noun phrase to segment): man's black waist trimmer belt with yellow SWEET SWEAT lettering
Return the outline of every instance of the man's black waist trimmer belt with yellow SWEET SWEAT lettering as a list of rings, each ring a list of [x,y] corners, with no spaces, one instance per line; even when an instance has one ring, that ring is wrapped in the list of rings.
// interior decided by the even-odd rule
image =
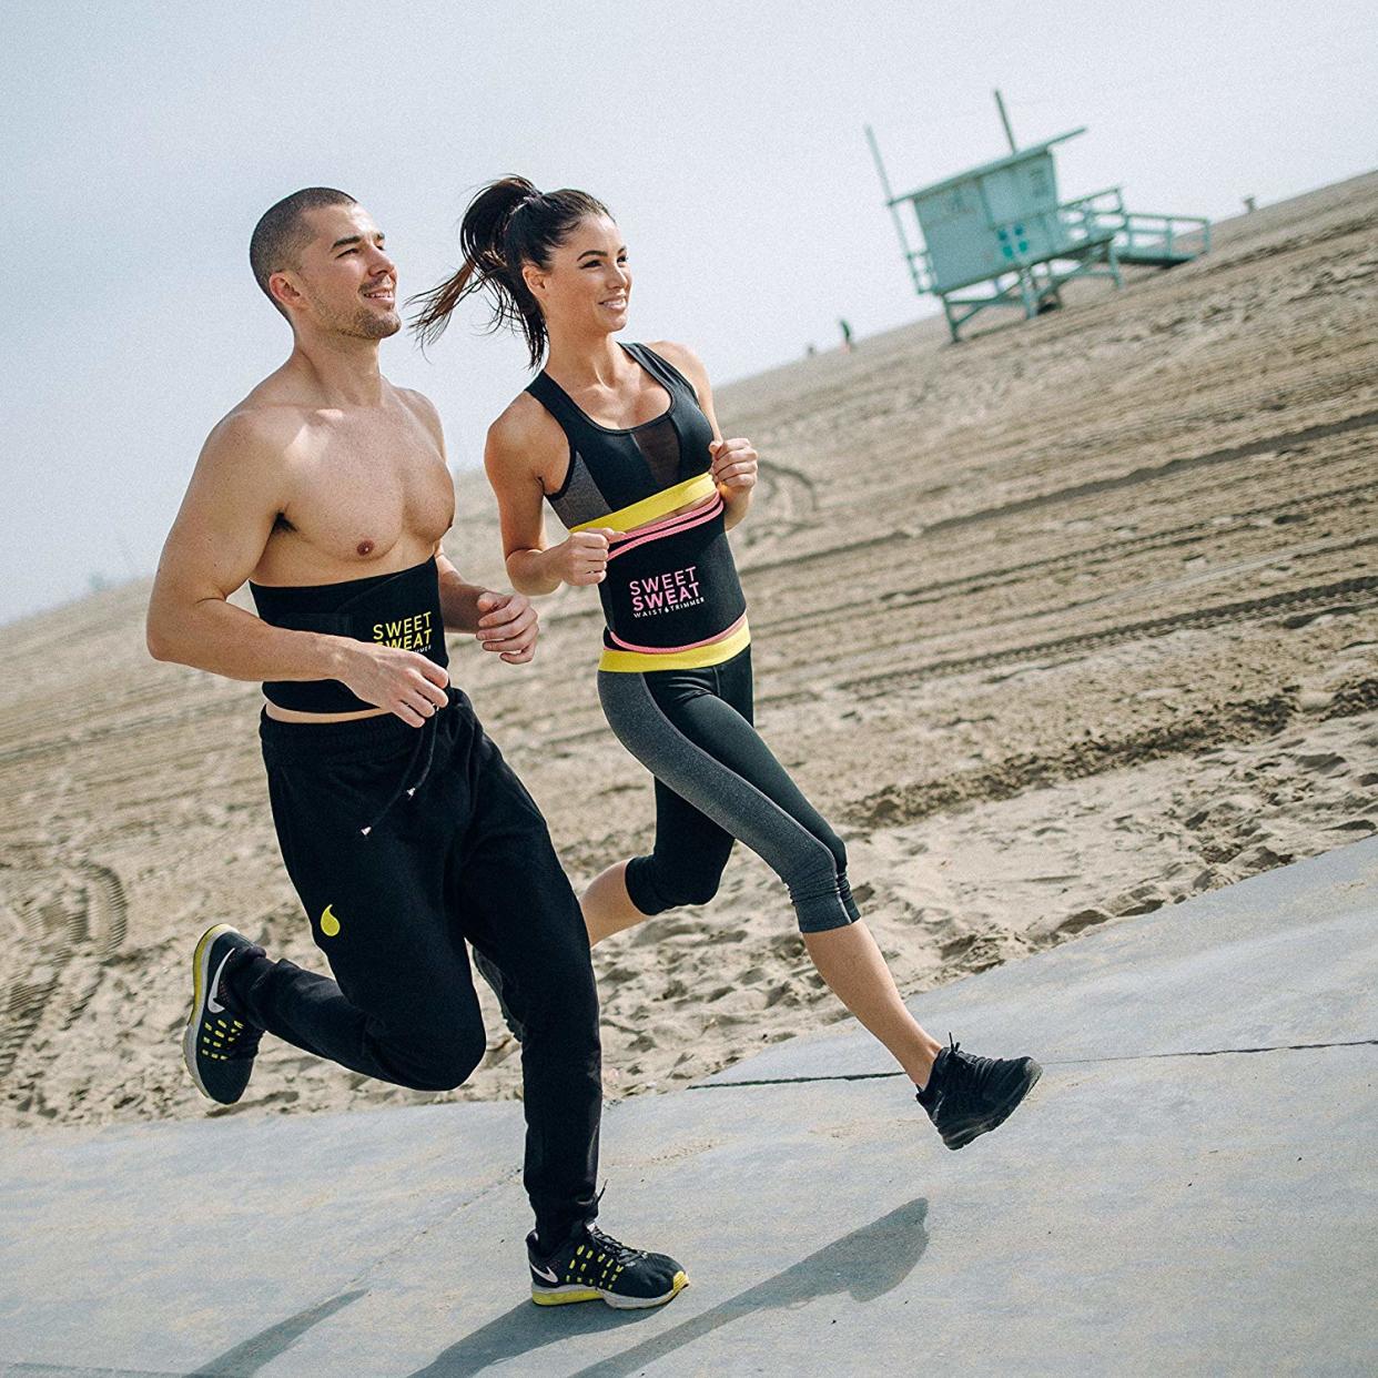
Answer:
[[[435,558],[391,575],[368,575],[336,584],[274,587],[249,582],[258,615],[274,627],[351,637],[380,646],[415,650],[449,664],[440,609]],[[298,712],[357,712],[372,708],[339,679],[273,679],[263,693]]]

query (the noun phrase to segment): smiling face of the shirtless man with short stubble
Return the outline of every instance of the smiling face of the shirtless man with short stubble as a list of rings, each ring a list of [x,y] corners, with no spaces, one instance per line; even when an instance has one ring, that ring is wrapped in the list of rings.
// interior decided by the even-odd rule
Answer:
[[[282,277],[296,289],[292,303],[321,328],[380,340],[402,328],[397,314],[397,267],[383,249],[383,232],[361,205],[307,211],[310,237],[299,266]]]

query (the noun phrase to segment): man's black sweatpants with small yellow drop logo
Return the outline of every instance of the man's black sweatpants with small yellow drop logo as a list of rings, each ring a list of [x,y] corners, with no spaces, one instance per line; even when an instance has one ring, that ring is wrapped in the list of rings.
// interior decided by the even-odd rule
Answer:
[[[525,1028],[525,1186],[543,1244],[597,1214],[598,998],[579,901],[546,820],[469,697],[423,728],[260,723],[288,875],[335,980],[252,956],[230,1005],[342,1067],[459,1086],[485,1032],[464,941]]]

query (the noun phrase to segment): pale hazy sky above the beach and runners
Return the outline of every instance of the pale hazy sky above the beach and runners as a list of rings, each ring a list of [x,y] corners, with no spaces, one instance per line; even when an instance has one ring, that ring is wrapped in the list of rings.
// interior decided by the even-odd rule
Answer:
[[[481,182],[606,201],[635,273],[628,339],[715,380],[929,314],[896,190],[1076,125],[1064,197],[1225,218],[1378,163],[1378,10],[1361,0],[1035,6],[0,0],[0,621],[152,572],[207,430],[285,357],[247,266],[254,222],[339,186],[402,294],[456,266]],[[452,462],[526,382],[477,307],[423,358]],[[726,418],[725,418],[726,419]]]

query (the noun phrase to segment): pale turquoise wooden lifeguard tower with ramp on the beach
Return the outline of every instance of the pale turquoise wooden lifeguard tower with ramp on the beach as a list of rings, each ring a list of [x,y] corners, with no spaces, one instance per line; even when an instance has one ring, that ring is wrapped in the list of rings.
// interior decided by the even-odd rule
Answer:
[[[890,192],[875,134],[865,131],[915,291],[943,302],[954,342],[988,307],[1034,317],[1060,307],[1060,289],[1073,277],[1108,277],[1120,287],[1122,263],[1171,267],[1210,248],[1209,220],[1127,211],[1118,186],[1060,201],[1051,150],[1086,128],[1020,149],[999,91],[995,99],[1009,154],[903,196]]]

